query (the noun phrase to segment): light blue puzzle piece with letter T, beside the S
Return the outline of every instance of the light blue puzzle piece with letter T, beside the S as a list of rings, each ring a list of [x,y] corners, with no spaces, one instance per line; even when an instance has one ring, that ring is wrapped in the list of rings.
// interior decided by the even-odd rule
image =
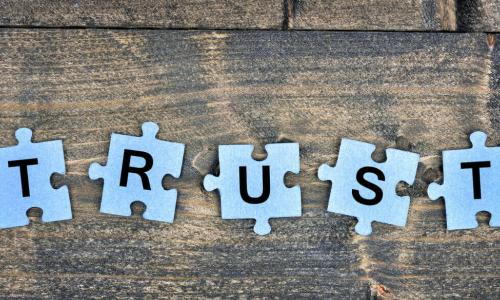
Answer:
[[[490,226],[500,226],[500,147],[486,147],[479,131],[470,141],[472,148],[443,151],[444,182],[427,190],[431,200],[444,197],[448,230],[476,228],[481,211],[491,213]]]

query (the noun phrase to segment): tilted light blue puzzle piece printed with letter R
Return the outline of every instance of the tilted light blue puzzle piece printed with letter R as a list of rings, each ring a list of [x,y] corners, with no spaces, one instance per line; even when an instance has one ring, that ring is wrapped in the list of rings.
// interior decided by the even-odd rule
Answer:
[[[174,221],[177,190],[165,190],[162,181],[167,174],[180,176],[184,145],[156,139],[158,130],[146,122],[141,137],[113,133],[107,165],[90,166],[91,179],[104,179],[102,213],[130,216],[130,205],[141,201],[145,219]]]

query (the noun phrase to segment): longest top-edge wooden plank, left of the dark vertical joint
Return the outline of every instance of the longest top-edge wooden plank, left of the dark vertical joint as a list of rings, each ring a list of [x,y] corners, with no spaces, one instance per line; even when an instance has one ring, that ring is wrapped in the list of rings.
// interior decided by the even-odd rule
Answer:
[[[279,29],[282,0],[0,0],[0,25]]]

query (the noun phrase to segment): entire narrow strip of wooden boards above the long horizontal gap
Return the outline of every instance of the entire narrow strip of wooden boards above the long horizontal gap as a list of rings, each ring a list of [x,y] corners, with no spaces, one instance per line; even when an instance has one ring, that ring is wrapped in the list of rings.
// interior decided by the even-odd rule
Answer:
[[[0,0],[0,26],[486,31],[499,0]]]

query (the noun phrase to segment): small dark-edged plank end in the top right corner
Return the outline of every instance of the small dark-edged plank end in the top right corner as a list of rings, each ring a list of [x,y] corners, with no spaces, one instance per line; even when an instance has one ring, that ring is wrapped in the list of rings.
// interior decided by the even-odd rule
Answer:
[[[457,0],[458,29],[500,31],[500,0]]]

